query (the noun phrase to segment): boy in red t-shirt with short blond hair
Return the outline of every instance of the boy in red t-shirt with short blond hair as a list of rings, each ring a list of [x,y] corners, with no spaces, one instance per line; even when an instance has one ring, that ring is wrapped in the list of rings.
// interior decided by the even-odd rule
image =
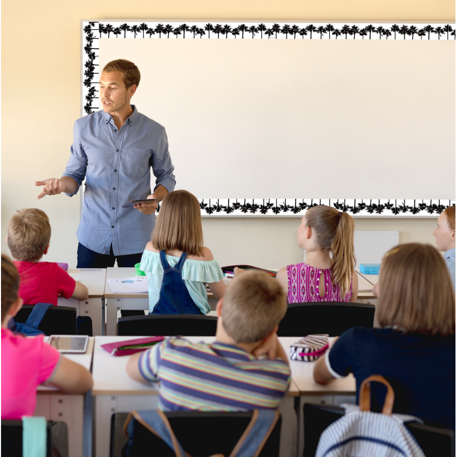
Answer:
[[[19,297],[25,305],[57,305],[59,294],[66,299],[87,300],[87,287],[75,281],[55,262],[40,262],[48,252],[51,226],[46,213],[23,209],[8,223],[8,247],[21,278]]]

